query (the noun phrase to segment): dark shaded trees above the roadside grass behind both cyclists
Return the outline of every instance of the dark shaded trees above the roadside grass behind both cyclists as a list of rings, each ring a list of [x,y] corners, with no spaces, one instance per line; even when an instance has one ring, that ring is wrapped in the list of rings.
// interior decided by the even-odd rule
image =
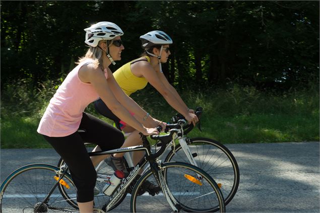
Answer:
[[[60,78],[84,55],[83,29],[111,21],[125,32],[122,61],[140,55],[139,36],[174,40],[164,70],[190,81],[288,90],[319,81],[318,1],[2,1],[2,89],[14,79]]]

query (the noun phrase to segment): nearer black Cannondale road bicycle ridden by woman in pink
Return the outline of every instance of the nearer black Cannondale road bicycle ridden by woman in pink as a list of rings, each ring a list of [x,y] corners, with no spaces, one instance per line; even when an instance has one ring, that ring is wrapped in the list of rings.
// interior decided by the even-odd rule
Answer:
[[[109,211],[119,205],[133,183],[130,199],[132,212],[225,212],[222,192],[209,174],[187,163],[162,163],[158,159],[177,133],[178,129],[171,129],[166,135],[152,135],[152,139],[162,144],[156,152],[152,152],[147,137],[142,134],[142,146],[90,152],[90,156],[133,151],[146,153],[145,158],[132,169],[129,176],[122,179],[110,196],[95,196],[95,212]],[[140,175],[148,163],[150,169]],[[97,181],[110,184],[110,177],[100,174]],[[145,193],[143,183],[146,180],[160,186],[161,192]],[[97,205],[97,197],[104,198],[102,206]],[[0,212],[79,212],[76,188],[68,166],[64,164],[59,168],[30,164],[12,172],[1,185]]]

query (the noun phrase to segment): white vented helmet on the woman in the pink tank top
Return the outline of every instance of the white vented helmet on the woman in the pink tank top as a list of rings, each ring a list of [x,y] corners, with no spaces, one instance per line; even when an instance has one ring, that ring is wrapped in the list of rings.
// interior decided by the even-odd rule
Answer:
[[[96,47],[100,40],[111,40],[124,34],[121,28],[112,22],[98,22],[84,30],[86,31],[85,43],[92,47]]]

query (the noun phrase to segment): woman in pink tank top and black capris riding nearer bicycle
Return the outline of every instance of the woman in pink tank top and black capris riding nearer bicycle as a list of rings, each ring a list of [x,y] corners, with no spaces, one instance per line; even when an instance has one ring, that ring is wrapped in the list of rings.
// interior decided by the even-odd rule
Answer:
[[[165,123],[151,116],[145,125],[138,121],[147,112],[126,96],[113,78],[108,66],[121,59],[124,49],[120,40],[122,30],[111,22],[99,22],[85,31],[85,43],[90,48],[57,89],[37,131],[68,164],[77,187],[80,212],[93,212],[94,166],[105,157],[90,159],[84,141],[96,143],[103,151],[135,144],[124,142],[123,134],[118,129],[85,113],[85,108],[100,97],[117,117],[145,135],[159,134],[155,128],[145,126],[165,127]],[[80,133],[78,128],[85,128],[86,131]],[[114,161],[121,161],[115,157],[112,157]]]

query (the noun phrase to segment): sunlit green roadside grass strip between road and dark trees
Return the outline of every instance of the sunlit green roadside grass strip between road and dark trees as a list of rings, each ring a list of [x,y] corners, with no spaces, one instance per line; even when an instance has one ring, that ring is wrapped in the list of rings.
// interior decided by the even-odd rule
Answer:
[[[48,81],[41,89],[19,83],[3,91],[1,149],[51,148],[36,130],[56,88]],[[224,90],[184,88],[179,93],[190,108],[204,108],[203,131],[195,128],[190,137],[209,137],[223,144],[319,141],[318,87],[278,94],[233,85]],[[176,113],[151,87],[132,98],[159,120],[170,121]],[[112,124],[97,114],[92,104],[86,112]]]

